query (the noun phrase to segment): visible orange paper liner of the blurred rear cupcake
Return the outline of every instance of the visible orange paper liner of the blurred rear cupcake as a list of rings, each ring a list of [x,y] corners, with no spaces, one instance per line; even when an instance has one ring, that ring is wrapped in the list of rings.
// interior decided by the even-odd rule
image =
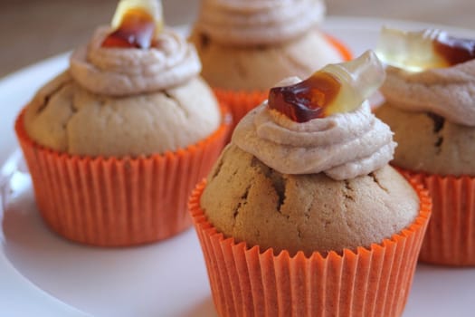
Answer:
[[[353,58],[352,53],[345,44],[339,42],[331,35],[325,34],[325,36],[327,37],[328,42],[337,49],[344,61],[349,61]],[[259,106],[262,101],[265,101],[269,96],[269,91],[233,91],[214,88],[214,94],[219,101],[223,101],[231,110],[231,114],[233,115],[233,125],[230,129],[231,136],[234,128],[242,117],[244,117],[250,110]]]

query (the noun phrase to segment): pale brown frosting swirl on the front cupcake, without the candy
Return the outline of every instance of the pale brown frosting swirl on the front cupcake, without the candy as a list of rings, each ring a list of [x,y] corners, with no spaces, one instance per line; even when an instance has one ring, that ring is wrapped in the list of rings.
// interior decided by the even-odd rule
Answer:
[[[396,146],[367,101],[351,112],[304,123],[269,109],[266,101],[240,121],[232,141],[282,174],[324,172],[337,180],[382,168]]]

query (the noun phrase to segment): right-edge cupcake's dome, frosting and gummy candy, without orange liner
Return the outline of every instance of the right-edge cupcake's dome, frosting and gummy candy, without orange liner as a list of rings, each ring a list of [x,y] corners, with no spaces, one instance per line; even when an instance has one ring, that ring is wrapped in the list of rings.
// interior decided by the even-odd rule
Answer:
[[[383,29],[377,48],[388,64],[375,110],[394,131],[394,164],[437,175],[475,175],[474,41],[440,30]]]

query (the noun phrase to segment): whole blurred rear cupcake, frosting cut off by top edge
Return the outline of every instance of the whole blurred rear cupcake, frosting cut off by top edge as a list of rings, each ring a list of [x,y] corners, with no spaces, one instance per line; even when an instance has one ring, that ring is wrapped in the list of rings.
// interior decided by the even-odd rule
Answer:
[[[347,47],[320,30],[324,14],[321,0],[201,2],[191,41],[204,79],[230,104],[234,122],[282,78],[306,78],[350,58]]]

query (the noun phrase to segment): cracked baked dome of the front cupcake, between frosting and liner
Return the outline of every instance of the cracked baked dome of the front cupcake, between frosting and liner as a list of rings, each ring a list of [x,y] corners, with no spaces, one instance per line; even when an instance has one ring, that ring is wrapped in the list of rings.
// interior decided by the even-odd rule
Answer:
[[[419,199],[389,166],[344,181],[288,175],[231,144],[208,177],[200,206],[217,231],[237,242],[310,256],[383,241],[413,221]]]

